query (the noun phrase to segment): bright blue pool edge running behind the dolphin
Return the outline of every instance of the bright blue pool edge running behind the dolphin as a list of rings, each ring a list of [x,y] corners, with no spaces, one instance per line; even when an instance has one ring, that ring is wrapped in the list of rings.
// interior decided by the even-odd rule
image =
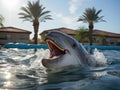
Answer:
[[[96,46],[96,45],[84,45],[86,49],[101,49],[101,50],[120,50],[120,46]],[[34,48],[43,48],[47,49],[47,44],[25,44],[25,43],[8,43],[4,45],[4,48],[18,48],[18,49],[34,49]]]

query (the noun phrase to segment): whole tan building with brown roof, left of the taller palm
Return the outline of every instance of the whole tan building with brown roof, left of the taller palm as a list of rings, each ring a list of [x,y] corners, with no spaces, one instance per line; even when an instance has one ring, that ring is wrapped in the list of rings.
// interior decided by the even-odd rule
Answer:
[[[31,32],[15,27],[0,28],[0,45],[6,43],[29,43]]]

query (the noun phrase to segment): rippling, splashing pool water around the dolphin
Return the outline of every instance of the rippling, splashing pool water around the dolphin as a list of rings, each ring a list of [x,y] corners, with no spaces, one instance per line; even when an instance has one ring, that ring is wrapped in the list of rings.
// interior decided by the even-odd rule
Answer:
[[[95,50],[101,67],[47,70],[41,59],[48,49],[1,49],[0,90],[120,90],[120,51]]]

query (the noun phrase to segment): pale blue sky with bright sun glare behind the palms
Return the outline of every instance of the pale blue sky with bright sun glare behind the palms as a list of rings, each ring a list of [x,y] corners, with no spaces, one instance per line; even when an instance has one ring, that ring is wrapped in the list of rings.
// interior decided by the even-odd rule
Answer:
[[[31,2],[36,0],[29,0]],[[20,8],[27,5],[28,0],[0,0],[0,15],[4,17],[4,26],[31,31],[33,37],[33,26],[31,22],[23,22],[18,13]],[[109,31],[120,34],[120,0],[40,0],[53,20],[41,22],[39,33],[44,30],[54,28],[71,28],[79,27],[88,28],[87,23],[77,22],[78,18],[83,15],[86,8],[95,7],[96,10],[102,10],[100,16],[104,16],[106,22],[94,24],[94,29]]]

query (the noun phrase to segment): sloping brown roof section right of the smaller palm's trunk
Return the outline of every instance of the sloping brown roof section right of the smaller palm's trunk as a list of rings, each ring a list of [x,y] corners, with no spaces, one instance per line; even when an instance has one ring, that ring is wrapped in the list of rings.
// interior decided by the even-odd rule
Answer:
[[[118,33],[112,33],[112,32],[107,32],[102,30],[93,30],[93,35],[100,35],[100,34],[107,37],[120,37],[120,34]]]

